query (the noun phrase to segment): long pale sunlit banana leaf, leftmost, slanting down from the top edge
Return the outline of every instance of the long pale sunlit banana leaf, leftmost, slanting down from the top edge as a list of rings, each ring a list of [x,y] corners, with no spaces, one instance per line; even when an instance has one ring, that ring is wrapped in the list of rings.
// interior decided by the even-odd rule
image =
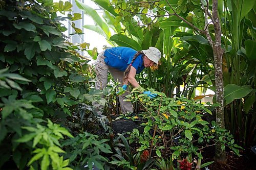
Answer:
[[[76,5],[79,9],[83,10],[87,15],[91,16],[95,23],[99,26],[99,28],[105,33],[105,37],[107,40],[111,37],[111,32],[109,30],[108,25],[100,18],[97,11],[93,8],[89,7],[86,4],[83,4],[82,2],[75,0]]]

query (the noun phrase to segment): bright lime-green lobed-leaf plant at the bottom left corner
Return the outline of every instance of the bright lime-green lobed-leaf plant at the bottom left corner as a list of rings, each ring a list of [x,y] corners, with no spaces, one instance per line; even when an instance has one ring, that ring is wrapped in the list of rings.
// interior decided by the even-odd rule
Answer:
[[[41,159],[41,169],[49,169],[50,164],[52,165],[52,169],[71,169],[66,167],[69,164],[69,159],[63,161],[63,157],[59,156],[60,153],[65,153],[65,151],[60,148],[59,140],[64,138],[63,135],[73,137],[68,130],[60,127],[60,125],[53,124],[49,119],[47,127],[37,124],[36,128],[22,127],[22,129],[30,133],[17,139],[16,142],[27,143],[33,139],[32,148],[34,148],[34,150],[32,153],[35,155],[28,162],[28,166],[33,166],[33,162]]]

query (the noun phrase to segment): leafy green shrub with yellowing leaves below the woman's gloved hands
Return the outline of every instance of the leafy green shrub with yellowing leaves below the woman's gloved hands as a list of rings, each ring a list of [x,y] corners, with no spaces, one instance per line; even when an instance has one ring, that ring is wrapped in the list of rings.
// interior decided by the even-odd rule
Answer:
[[[146,120],[144,133],[140,134],[134,129],[130,135],[130,143],[138,143],[137,151],[152,150],[158,157],[172,153],[172,158],[179,160],[181,154],[195,154],[202,158],[200,150],[211,144],[221,142],[222,149],[225,146],[232,149],[239,155],[239,147],[234,144],[232,135],[227,130],[217,127],[216,122],[209,124],[204,120],[203,115],[210,115],[212,107],[217,105],[204,106],[198,101],[178,98],[174,100],[167,98],[164,93],[154,91],[158,98],[152,100],[140,91],[134,89],[129,96],[129,101],[140,102],[145,112],[142,118]],[[147,90],[147,89],[146,89]],[[159,108],[160,107],[160,108]],[[151,130],[154,130],[154,135]],[[179,139],[175,139],[180,135]],[[191,161],[190,161],[191,162]]]

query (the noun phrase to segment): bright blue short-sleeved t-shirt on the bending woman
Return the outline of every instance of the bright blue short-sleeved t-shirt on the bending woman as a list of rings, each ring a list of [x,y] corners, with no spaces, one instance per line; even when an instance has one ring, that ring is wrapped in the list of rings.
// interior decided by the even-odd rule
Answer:
[[[134,55],[137,51],[130,47],[112,47],[105,50],[105,63],[113,68],[120,71],[124,71],[127,66],[132,62]],[[137,70],[136,73],[139,74],[143,69],[143,59],[140,54],[133,62],[132,66]]]

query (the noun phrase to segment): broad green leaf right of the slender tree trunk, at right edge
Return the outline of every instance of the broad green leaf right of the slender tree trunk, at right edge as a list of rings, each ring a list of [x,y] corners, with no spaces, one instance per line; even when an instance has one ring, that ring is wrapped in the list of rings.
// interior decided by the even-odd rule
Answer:
[[[236,84],[228,84],[224,87],[224,99],[226,105],[233,102],[235,99],[244,98],[252,91],[250,86],[238,86]]]

